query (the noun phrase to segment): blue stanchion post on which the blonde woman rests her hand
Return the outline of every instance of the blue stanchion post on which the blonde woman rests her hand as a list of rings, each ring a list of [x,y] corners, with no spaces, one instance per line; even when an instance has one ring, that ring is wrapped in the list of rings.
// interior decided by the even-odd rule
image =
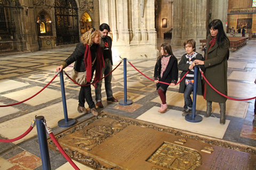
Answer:
[[[65,85],[64,85],[64,79],[63,79],[63,71],[60,71],[60,87],[61,87],[61,96],[62,96],[62,105],[63,105],[63,111],[64,111],[64,119],[60,120],[58,122],[58,125],[61,128],[68,128],[70,126],[73,126],[76,124],[76,120],[73,118],[68,118],[68,111],[67,111],[67,102],[66,102],[66,94],[65,94]]]

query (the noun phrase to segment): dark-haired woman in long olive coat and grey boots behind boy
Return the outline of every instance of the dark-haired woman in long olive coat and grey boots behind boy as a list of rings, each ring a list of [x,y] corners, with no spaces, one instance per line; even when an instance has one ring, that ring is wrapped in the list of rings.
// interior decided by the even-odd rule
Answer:
[[[210,35],[207,37],[207,46],[204,60],[195,60],[195,63],[204,65],[204,75],[206,79],[221,94],[228,94],[227,69],[229,57],[229,39],[226,36],[223,24],[220,20],[213,20],[209,24]],[[212,112],[212,101],[219,103],[220,106],[220,124],[225,124],[226,101],[227,98],[218,94],[209,84],[204,81],[204,98],[207,101],[205,117],[209,117]]]

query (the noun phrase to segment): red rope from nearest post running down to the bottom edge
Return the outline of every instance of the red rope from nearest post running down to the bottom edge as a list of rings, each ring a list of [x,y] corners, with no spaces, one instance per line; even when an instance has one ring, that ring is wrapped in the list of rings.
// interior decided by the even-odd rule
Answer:
[[[57,146],[57,148],[59,149],[59,151],[61,152],[61,154],[67,159],[67,161],[69,162],[69,164],[71,166],[73,166],[74,169],[76,170],[80,170],[76,164],[73,162],[72,159],[69,158],[69,156],[67,155],[67,153],[65,152],[65,150],[63,150],[63,148],[60,146],[60,143],[58,142],[58,140],[54,137],[54,134],[52,133],[52,130],[49,126],[47,126],[46,122],[44,122],[46,131],[48,132],[48,134],[50,135],[52,141],[54,142],[54,144]]]

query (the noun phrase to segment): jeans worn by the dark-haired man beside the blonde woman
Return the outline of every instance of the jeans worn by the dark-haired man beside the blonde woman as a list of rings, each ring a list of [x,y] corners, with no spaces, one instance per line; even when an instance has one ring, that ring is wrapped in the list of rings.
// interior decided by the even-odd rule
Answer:
[[[102,69],[101,74],[102,77],[103,75],[106,76],[108,73],[112,71],[112,64],[109,59],[104,60],[105,67]],[[105,79],[105,90],[106,90],[106,95],[107,98],[113,97],[113,92],[112,92],[112,86],[111,86],[111,80],[112,80],[112,73],[109,74]],[[97,87],[95,88],[95,100],[101,101],[101,86],[102,86],[102,80],[97,83]]]

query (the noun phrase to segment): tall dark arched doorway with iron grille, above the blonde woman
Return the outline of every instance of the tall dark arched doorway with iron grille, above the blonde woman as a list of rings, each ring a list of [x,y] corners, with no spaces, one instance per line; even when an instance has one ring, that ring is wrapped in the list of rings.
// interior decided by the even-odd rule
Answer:
[[[75,0],[55,1],[57,45],[79,43],[78,13]]]

